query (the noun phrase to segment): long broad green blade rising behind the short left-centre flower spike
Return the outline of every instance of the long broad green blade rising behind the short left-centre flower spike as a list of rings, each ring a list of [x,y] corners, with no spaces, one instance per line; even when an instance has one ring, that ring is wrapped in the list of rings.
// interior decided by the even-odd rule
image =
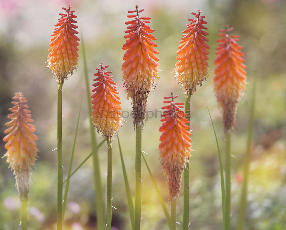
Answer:
[[[88,114],[89,117],[92,116],[92,106],[90,103],[90,88],[88,82],[88,71],[86,65],[86,53],[84,49],[84,38],[82,36],[82,56],[84,62],[84,76],[86,82],[86,96],[88,102]],[[101,186],[101,178],[100,178],[100,166],[98,160],[98,152],[97,152],[97,141],[95,137],[95,133],[92,125],[90,125],[90,138],[92,143],[92,162],[93,162],[93,170],[94,170],[94,193],[95,193],[95,201],[96,201],[96,215],[97,215],[97,229],[104,230],[104,201],[102,195],[102,186]]]

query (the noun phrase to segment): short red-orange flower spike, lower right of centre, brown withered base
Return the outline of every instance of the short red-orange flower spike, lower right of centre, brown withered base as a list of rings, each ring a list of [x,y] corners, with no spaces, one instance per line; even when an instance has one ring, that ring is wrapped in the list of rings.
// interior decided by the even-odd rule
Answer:
[[[170,99],[164,101],[164,103],[170,103],[170,105],[162,107],[166,109],[162,115],[161,121],[163,122],[159,131],[163,132],[160,136],[159,145],[159,158],[161,160],[162,170],[164,174],[168,176],[168,189],[169,199],[176,199],[179,196],[182,172],[186,164],[188,164],[188,157],[192,155],[191,136],[188,131],[190,127],[186,125],[189,121],[185,118],[187,116],[181,108],[184,108],[184,103],[174,103],[173,97],[164,97],[164,99]]]

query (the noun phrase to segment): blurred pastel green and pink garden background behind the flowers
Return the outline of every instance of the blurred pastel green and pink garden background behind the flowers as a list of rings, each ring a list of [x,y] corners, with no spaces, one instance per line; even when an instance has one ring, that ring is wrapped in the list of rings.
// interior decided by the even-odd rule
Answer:
[[[253,79],[257,77],[255,120],[249,196],[245,229],[285,229],[286,226],[286,1],[284,0],[178,0],[178,1],[91,1],[91,0],[1,0],[1,140],[4,137],[8,108],[14,92],[23,92],[37,131],[39,148],[29,193],[29,229],[55,229],[56,222],[56,81],[46,68],[50,35],[61,7],[72,6],[78,16],[78,31],[84,38],[88,62],[90,89],[95,68],[101,62],[110,65],[124,112],[124,126],[119,131],[128,179],[134,194],[135,135],[132,119],[126,117],[131,104],[124,94],[121,81],[122,45],[128,21],[127,11],[138,4],[152,17],[150,26],[157,38],[160,59],[160,79],[149,97],[149,116],[160,111],[163,97],[170,92],[183,92],[172,78],[178,42],[191,12],[200,9],[208,22],[209,77],[192,96],[190,127],[195,151],[190,161],[190,229],[222,229],[221,187],[215,136],[206,103],[214,120],[221,151],[224,155],[224,134],[221,111],[213,92],[215,48],[218,29],[225,24],[234,27],[232,34],[240,35],[247,66],[247,91],[238,105],[237,127],[232,136],[232,218],[235,226],[246,140]],[[63,87],[63,166],[66,178],[76,120],[82,111],[74,168],[91,152],[89,126],[82,63],[82,43],[79,46],[79,68]],[[178,100],[178,101],[179,101]],[[158,116],[149,117],[142,132],[142,150],[159,189],[168,202],[166,178],[158,159],[161,125]],[[101,135],[96,136],[98,142]],[[131,229],[117,139],[113,142],[113,226]],[[5,154],[1,141],[1,156]],[[106,187],[106,144],[99,150],[102,184]],[[224,156],[223,156],[224,157]],[[15,179],[5,158],[1,158],[1,221],[0,229],[19,229],[19,199]],[[142,229],[168,229],[162,208],[145,165],[142,165]],[[105,190],[104,190],[105,194]],[[178,201],[177,221],[182,223],[182,197]],[[65,229],[95,229],[94,185],[92,161],[88,160],[72,177],[69,188]],[[178,229],[180,225],[178,224]]]

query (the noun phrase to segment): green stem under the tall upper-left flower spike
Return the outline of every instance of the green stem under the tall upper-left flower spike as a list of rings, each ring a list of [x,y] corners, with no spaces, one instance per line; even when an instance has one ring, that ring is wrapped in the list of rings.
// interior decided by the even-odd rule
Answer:
[[[57,88],[57,230],[61,230],[63,224],[62,99],[63,83],[60,81]]]

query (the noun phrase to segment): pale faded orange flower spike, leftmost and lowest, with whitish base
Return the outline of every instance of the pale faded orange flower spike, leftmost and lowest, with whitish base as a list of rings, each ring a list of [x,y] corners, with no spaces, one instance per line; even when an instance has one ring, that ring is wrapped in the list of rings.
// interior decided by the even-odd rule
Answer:
[[[37,156],[38,140],[34,134],[35,126],[30,124],[34,120],[31,119],[31,111],[27,110],[28,105],[26,98],[22,93],[15,93],[12,104],[14,105],[9,110],[12,112],[8,115],[11,121],[5,125],[10,126],[4,133],[7,135],[3,141],[7,142],[5,148],[7,152],[4,156],[7,157],[9,167],[14,170],[16,178],[16,187],[21,199],[28,198],[28,193],[31,183],[31,169],[35,165]]]

